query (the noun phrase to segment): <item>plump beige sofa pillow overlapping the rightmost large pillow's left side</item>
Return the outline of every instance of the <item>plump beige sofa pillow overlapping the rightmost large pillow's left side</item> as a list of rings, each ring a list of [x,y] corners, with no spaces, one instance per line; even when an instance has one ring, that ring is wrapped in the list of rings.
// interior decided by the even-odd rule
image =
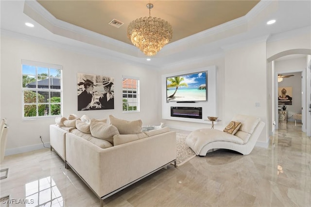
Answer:
[[[112,124],[107,124],[102,121],[91,119],[90,121],[91,135],[96,138],[101,138],[113,144],[113,136],[119,135],[117,127]]]

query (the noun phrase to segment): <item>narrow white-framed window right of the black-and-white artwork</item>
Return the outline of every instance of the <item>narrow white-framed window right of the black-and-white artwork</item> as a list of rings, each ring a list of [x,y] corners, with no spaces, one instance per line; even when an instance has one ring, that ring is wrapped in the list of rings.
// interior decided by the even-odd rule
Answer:
[[[123,76],[122,78],[123,112],[139,112],[139,79]]]

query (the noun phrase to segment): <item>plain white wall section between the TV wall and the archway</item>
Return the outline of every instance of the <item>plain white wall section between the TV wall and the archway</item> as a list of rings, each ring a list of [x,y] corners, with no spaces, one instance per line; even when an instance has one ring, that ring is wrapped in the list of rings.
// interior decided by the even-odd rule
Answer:
[[[226,52],[224,113],[226,123],[236,114],[258,116],[266,123],[258,142],[267,144],[269,133],[265,41]]]

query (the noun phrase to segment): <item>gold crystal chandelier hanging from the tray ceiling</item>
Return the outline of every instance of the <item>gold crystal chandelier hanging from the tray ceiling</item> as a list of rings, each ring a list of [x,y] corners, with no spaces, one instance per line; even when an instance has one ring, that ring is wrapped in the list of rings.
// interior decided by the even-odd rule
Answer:
[[[173,36],[173,29],[164,19],[151,17],[150,9],[154,7],[148,3],[149,17],[140,17],[132,21],[127,28],[127,37],[145,55],[152,56],[160,51]]]

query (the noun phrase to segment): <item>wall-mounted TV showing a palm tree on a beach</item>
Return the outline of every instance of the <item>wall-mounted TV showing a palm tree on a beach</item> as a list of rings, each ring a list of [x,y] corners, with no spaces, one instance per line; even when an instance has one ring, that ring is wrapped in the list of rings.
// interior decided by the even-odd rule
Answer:
[[[167,101],[206,101],[206,72],[166,78]]]

